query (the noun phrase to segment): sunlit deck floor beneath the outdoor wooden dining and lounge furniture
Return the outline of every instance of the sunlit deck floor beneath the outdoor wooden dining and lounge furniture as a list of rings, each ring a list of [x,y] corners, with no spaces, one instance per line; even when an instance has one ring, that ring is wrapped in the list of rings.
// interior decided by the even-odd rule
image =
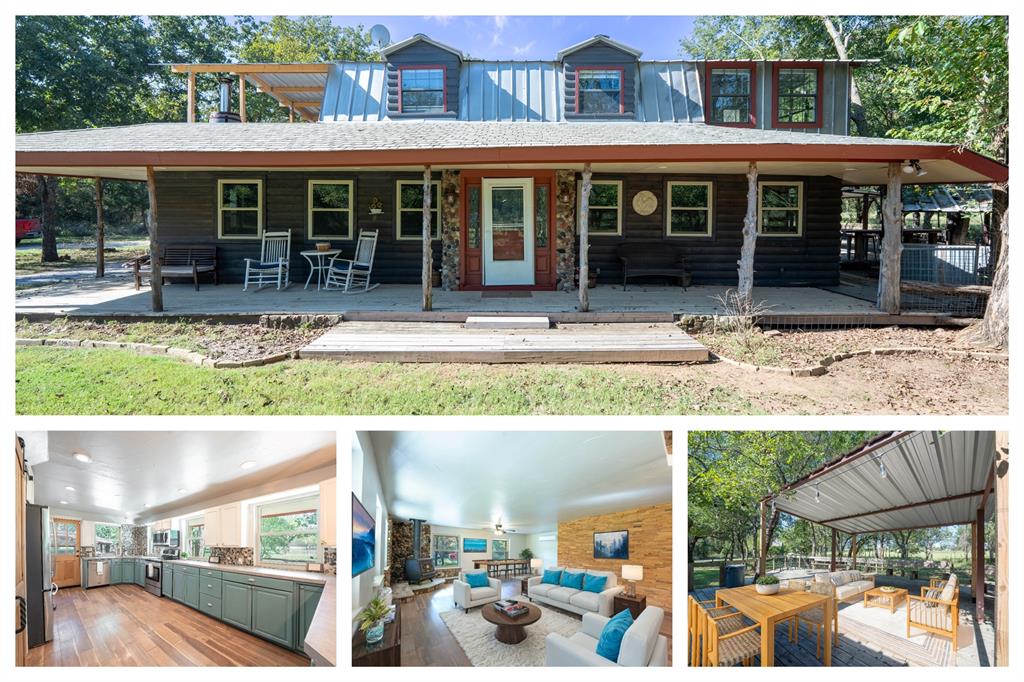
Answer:
[[[921,581],[907,581],[895,577],[878,577],[877,584],[894,585],[919,593]],[[749,583],[750,581],[748,581]],[[718,588],[701,588],[692,594],[697,599],[715,599]],[[899,667],[899,666],[959,666],[987,667],[995,660],[995,632],[991,611],[986,621],[976,624],[970,611],[973,600],[968,588],[961,591],[959,649],[951,656],[948,639],[936,637],[921,630],[912,630],[906,637],[906,602],[894,613],[884,608],[863,608],[860,600],[840,605],[839,644],[833,647],[833,666],[836,667]],[[821,660],[815,655],[814,633],[806,626],[800,629],[797,643],[790,641],[787,625],[775,629],[775,665],[785,667],[817,667]],[[760,664],[760,662],[758,662]]]

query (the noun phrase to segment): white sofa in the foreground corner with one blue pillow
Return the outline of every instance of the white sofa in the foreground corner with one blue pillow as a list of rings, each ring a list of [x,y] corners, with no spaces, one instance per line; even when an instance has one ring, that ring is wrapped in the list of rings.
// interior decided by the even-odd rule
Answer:
[[[666,667],[669,665],[669,640],[658,634],[665,611],[657,606],[643,610],[623,636],[618,649],[618,660],[613,663],[597,654],[597,642],[601,631],[610,619],[596,613],[583,616],[583,630],[571,637],[549,633],[544,642],[545,665],[549,667],[567,666],[643,666]]]

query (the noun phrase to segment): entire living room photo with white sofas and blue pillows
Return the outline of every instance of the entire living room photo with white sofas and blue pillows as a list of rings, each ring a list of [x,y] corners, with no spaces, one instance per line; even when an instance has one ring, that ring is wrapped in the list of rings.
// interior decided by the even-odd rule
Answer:
[[[354,666],[671,666],[672,438],[364,431]]]

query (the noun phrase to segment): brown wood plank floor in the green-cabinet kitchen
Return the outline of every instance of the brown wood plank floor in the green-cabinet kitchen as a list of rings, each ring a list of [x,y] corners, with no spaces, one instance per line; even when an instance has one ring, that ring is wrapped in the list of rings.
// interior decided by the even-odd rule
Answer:
[[[309,659],[135,585],[57,592],[29,666],[308,666]]]

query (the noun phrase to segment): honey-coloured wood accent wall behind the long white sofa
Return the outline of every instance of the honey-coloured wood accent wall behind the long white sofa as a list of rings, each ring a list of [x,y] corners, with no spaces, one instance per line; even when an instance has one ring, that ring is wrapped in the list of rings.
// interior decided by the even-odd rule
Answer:
[[[605,530],[630,531],[629,559],[594,558],[594,534]],[[637,583],[637,594],[647,595],[649,605],[660,606],[671,613],[671,502],[612,514],[585,516],[558,524],[559,566],[613,570],[621,577],[623,564],[643,566],[643,580]]]

